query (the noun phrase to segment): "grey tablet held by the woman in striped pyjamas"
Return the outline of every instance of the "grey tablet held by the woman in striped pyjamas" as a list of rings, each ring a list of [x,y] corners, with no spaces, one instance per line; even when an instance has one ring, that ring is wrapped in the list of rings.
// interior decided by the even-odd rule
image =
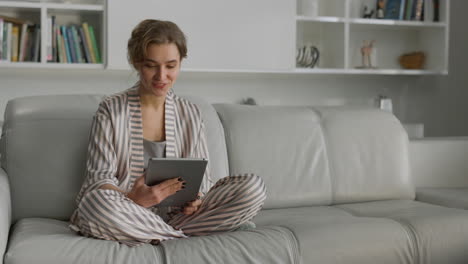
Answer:
[[[195,200],[207,163],[207,159],[197,158],[151,158],[146,170],[146,185],[152,186],[178,177],[186,182],[185,189],[167,197],[156,207],[183,206]]]

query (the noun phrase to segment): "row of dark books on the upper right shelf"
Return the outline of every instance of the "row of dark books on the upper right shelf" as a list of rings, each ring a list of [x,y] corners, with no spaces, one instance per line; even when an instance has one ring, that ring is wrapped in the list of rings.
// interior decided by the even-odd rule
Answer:
[[[439,21],[440,0],[377,0],[377,6],[382,1],[385,19]]]

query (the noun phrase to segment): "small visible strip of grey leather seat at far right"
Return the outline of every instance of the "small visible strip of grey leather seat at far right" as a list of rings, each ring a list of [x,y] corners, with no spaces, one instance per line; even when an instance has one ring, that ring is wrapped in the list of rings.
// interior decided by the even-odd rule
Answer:
[[[416,188],[416,200],[446,207],[468,209],[468,188]]]

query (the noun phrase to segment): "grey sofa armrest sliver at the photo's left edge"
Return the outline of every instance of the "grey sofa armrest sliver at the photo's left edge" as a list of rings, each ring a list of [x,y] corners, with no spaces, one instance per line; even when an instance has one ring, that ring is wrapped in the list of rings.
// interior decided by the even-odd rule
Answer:
[[[10,183],[6,172],[0,168],[0,263],[3,263],[8,233],[11,225]]]

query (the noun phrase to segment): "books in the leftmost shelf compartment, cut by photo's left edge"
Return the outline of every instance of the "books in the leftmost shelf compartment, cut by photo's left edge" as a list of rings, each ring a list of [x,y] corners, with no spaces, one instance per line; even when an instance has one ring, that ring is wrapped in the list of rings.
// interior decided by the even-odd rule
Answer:
[[[0,61],[39,62],[40,43],[40,25],[0,16]]]

